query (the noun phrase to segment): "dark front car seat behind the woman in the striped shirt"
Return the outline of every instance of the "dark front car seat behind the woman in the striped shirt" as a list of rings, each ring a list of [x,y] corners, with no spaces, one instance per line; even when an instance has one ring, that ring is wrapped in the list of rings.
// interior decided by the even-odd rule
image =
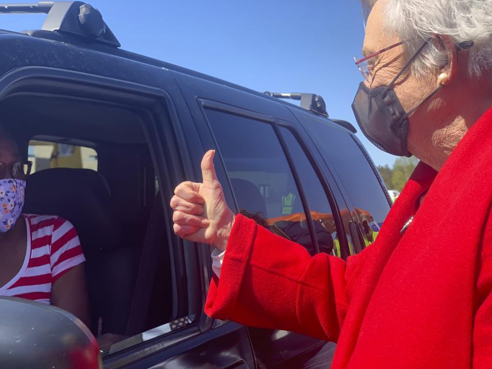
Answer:
[[[135,279],[135,251],[122,241],[105,178],[89,169],[53,168],[28,177],[24,212],[53,214],[74,225],[86,257],[94,334],[125,334]]]

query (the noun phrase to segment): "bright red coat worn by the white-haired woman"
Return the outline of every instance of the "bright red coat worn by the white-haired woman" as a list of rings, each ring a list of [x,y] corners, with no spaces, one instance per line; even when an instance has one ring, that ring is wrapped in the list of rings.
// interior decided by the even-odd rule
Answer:
[[[418,165],[346,263],[238,215],[205,311],[335,341],[334,369],[492,368],[491,203],[492,109],[439,174]]]

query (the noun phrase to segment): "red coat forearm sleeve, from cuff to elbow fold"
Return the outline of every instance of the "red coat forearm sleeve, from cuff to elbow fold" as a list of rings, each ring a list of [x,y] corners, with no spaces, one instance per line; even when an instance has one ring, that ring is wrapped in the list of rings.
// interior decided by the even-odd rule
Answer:
[[[299,244],[237,215],[205,312],[217,319],[337,341],[348,307],[345,277],[342,259],[311,257]]]

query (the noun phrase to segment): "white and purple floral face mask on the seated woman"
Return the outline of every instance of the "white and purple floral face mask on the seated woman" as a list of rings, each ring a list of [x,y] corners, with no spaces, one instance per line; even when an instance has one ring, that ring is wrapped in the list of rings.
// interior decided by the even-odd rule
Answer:
[[[24,180],[0,179],[0,232],[8,232],[14,227],[24,207],[25,191]]]

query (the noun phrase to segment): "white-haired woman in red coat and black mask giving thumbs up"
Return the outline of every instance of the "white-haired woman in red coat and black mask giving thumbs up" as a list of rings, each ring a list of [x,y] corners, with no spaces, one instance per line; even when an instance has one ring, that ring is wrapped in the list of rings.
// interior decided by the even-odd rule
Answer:
[[[421,159],[375,243],[311,257],[234,215],[213,152],[176,188],[174,230],[217,249],[213,317],[336,341],[333,368],[490,368],[492,1],[369,5],[357,122]]]

